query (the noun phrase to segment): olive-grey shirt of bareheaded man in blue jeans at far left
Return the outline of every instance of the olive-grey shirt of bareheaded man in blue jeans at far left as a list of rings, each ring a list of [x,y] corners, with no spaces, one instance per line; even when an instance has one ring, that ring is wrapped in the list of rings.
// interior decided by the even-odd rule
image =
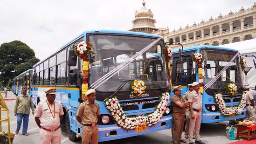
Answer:
[[[14,105],[14,114],[29,114],[30,108],[32,112],[35,111],[34,104],[30,95],[23,96],[22,94],[16,97]]]

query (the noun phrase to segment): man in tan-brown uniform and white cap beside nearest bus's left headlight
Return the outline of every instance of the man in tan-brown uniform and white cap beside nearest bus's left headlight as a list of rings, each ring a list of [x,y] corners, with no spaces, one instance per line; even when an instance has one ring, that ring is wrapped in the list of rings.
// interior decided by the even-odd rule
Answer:
[[[88,99],[81,103],[76,113],[76,120],[83,124],[82,144],[98,144],[98,116],[100,115],[99,104],[96,99],[95,89],[89,89],[85,94]],[[82,118],[81,118],[82,117]]]

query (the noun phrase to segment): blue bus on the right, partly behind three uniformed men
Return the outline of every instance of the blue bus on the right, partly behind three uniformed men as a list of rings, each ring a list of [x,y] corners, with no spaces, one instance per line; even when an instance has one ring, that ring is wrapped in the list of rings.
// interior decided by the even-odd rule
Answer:
[[[172,59],[172,87],[182,86],[182,93],[188,91],[187,84],[199,82],[198,66],[192,61],[193,53],[201,53],[204,56],[202,65],[202,84],[205,86],[217,75],[227,63],[238,52],[235,49],[215,47],[215,46],[193,46],[184,48],[182,62],[180,61],[179,50],[173,50]],[[202,120],[201,123],[216,123],[245,117],[246,109],[239,115],[223,116],[220,113],[215,101],[214,93],[222,93],[226,106],[238,105],[244,89],[243,72],[239,61],[239,55],[231,62],[228,68],[222,73],[208,89],[203,91],[202,95]],[[238,88],[237,95],[231,97],[225,93],[225,85],[234,82]],[[182,94],[182,95],[183,95]]]

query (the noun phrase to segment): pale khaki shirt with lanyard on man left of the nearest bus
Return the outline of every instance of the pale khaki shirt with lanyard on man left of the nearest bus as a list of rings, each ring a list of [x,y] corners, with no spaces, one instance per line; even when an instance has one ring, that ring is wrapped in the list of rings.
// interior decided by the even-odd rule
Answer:
[[[50,108],[48,107],[48,104]],[[54,112],[55,107],[55,112]],[[55,113],[55,117],[53,117],[52,112]],[[46,129],[56,129],[59,127],[60,116],[64,115],[62,104],[54,101],[50,104],[47,100],[44,102],[40,102],[35,109],[35,117],[41,117],[40,125]]]

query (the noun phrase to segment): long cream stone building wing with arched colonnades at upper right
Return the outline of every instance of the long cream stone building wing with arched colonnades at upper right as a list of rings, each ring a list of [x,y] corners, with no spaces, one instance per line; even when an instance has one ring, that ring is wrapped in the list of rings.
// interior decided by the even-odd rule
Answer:
[[[245,41],[256,38],[256,3],[251,8],[243,7],[227,15],[219,15],[218,18],[212,17],[208,21],[201,21],[169,32],[169,28],[160,28],[152,32],[164,37],[165,41],[180,42],[184,47],[194,45],[222,45],[237,41]],[[180,48],[173,45],[172,48]]]

